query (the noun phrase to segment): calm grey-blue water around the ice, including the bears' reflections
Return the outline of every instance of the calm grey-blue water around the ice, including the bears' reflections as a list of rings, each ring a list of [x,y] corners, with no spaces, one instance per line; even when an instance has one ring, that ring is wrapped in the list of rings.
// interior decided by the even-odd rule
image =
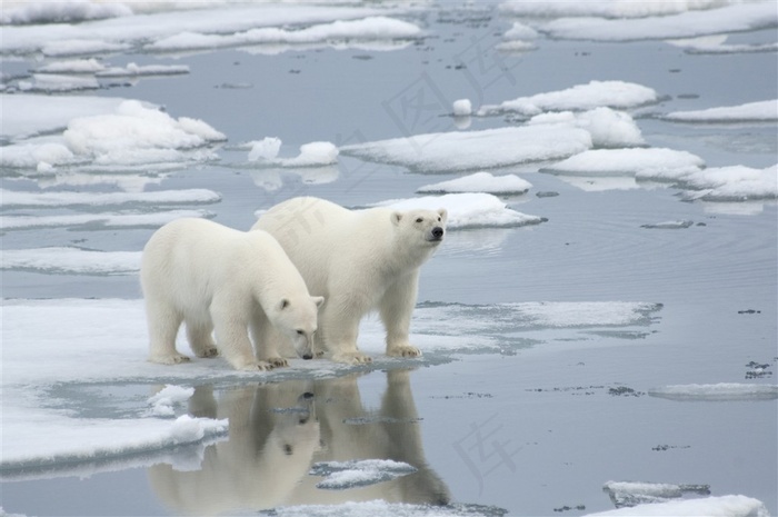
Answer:
[[[595,79],[638,82],[664,96],[638,119],[652,147],[688,150],[710,167],[776,162],[775,123],[679,125],[650,117],[650,111],[776,98],[775,53],[697,56],[662,41],[539,39],[535,51],[499,54],[495,43],[510,23],[491,6],[417,16],[431,36],[390,52],[320,49],[267,56],[227,49],[114,56],[116,66],[174,62],[191,72],[100,95],[150,101],[226,133],[221,161],[174,171],[153,188],[217,190],[221,202],[208,207],[215,220],[247,229],[256,210],[291,196],[361,206],[411,197],[421,185],[456,176],[413,175],[341,157],[335,181],[306,182],[282,172],[280,187],[267,191],[256,185],[256,171],[230,167],[246,153],[230,145],[279,137],[281,153],[295,156],[300,145],[317,140],[345,145],[453,130],[453,119],[440,113],[456,99],[496,103]],[[740,38],[765,36],[775,38],[775,31]],[[501,117],[475,118],[470,128],[507,123]],[[419,301],[660,304],[649,324],[539,329],[526,348],[460,355],[410,369],[271,385],[200,385],[188,410],[229,416],[231,427],[229,440],[206,449],[199,469],[159,463],[7,480],[0,485],[4,510],[202,515],[382,498],[463,505],[453,507],[461,513],[573,516],[614,508],[604,484],[632,480],[706,485],[711,495],[760,499],[776,515],[775,399],[678,401],[648,395],[665,385],[775,384],[775,202],[685,202],[670,186],[585,190],[528,166],[508,171],[533,188],[507,201],[548,220],[527,228],[449,232],[422,270]],[[31,180],[4,175],[1,182],[36,188]],[[536,195],[548,191],[558,196]],[[644,228],[668,220],[692,223]],[[46,229],[2,238],[6,249],[78,242],[139,250],[151,232]],[[131,276],[4,270],[2,290],[6,298],[140,296]],[[768,365],[769,375],[746,380],[750,361]],[[129,396],[141,388],[118,390]],[[273,411],[285,408],[302,409]],[[417,470],[342,490],[316,489],[318,478],[307,474],[316,461],[360,458],[405,461]]]

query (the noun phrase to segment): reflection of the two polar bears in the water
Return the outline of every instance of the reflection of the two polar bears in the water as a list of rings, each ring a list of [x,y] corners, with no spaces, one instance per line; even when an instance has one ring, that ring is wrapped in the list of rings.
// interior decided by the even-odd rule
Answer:
[[[389,371],[387,381],[372,411],[362,406],[357,376],[253,384],[225,390],[218,402],[212,388],[197,388],[190,412],[229,418],[229,440],[206,449],[200,470],[149,468],[151,486],[171,510],[190,515],[373,499],[446,505],[448,488],[425,460],[409,371]],[[309,475],[316,463],[365,459],[417,470],[337,490],[317,488],[322,478]]]

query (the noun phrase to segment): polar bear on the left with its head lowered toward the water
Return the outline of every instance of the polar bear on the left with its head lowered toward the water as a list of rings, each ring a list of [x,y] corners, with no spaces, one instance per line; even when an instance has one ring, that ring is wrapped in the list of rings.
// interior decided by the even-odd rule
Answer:
[[[220,352],[237,369],[287,365],[276,340],[268,339],[270,326],[291,339],[300,357],[312,357],[323,298],[308,294],[289,257],[265,231],[238,231],[197,218],[174,220],[143,248],[140,280],[153,362],[189,360],[176,350],[182,321],[198,357]]]

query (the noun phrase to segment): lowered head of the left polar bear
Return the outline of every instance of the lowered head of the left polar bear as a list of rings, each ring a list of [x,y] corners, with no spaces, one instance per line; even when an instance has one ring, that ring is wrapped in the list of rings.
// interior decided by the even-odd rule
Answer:
[[[287,297],[276,304],[270,321],[295,345],[295,351],[303,359],[313,358],[313,336],[317,329],[321,296]]]

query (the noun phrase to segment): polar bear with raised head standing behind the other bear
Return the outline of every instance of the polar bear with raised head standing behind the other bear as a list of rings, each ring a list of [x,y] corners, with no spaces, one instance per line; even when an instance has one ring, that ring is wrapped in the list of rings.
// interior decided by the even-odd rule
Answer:
[[[378,309],[387,330],[387,355],[420,356],[408,341],[419,268],[446,231],[446,209],[348,210],[318,198],[276,205],[251,228],[272,235],[311,292],[327,299],[317,344],[339,362],[369,362],[357,348],[359,321]]]

